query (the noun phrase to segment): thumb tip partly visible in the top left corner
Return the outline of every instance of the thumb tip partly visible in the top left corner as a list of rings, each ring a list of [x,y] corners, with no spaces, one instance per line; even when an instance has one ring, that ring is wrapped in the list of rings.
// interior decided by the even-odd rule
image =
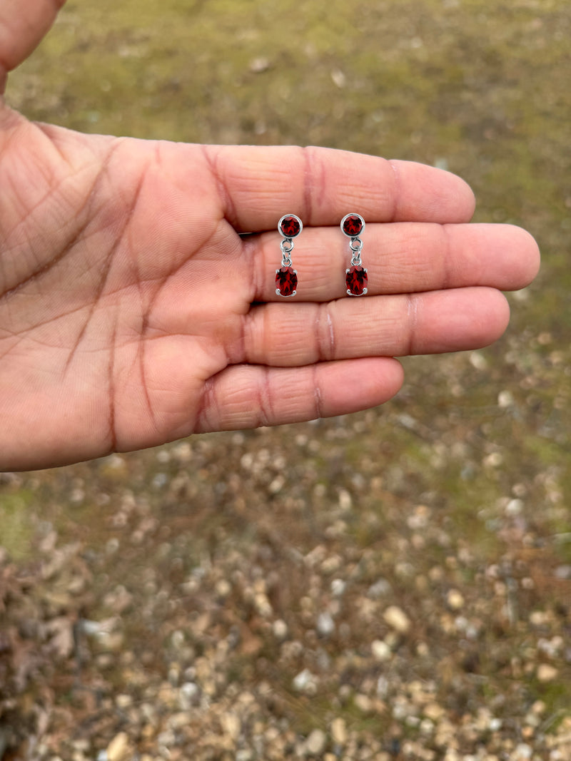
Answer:
[[[0,94],[8,72],[27,59],[65,0],[0,0]]]

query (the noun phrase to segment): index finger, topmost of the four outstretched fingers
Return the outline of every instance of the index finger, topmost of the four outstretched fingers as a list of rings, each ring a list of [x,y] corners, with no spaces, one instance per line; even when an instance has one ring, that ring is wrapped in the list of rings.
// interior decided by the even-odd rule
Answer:
[[[238,232],[273,230],[284,214],[304,224],[467,222],[474,193],[455,174],[413,161],[333,148],[203,146],[222,214]]]

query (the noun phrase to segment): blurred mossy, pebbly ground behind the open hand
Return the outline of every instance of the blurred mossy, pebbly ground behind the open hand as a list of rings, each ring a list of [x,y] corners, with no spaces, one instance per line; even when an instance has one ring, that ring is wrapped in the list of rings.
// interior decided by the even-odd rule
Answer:
[[[543,267],[382,409],[0,476],[0,759],[571,758],[571,7],[70,0],[30,119],[464,177]]]

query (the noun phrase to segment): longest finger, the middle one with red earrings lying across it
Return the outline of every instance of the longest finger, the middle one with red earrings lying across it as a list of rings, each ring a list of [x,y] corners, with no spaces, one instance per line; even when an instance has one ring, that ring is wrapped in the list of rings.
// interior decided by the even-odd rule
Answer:
[[[285,301],[276,295],[275,285],[280,240],[276,231],[249,241],[258,273],[252,301]],[[511,224],[368,224],[362,241],[368,295],[467,285],[509,291],[527,285],[538,267],[533,237]],[[298,272],[297,295],[292,299],[330,301],[346,295],[350,255],[349,238],[340,229],[304,228],[292,252],[292,267]]]

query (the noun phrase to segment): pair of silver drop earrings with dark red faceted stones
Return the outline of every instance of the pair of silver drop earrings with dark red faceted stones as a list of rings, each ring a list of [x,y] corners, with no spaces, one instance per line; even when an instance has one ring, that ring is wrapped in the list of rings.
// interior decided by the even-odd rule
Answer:
[[[282,250],[282,266],[276,269],[276,294],[278,296],[295,296],[298,292],[298,271],[292,269],[293,239],[303,229],[301,219],[295,214],[286,214],[278,222],[278,232],[282,236],[279,247]],[[351,266],[345,270],[346,292],[349,296],[364,296],[367,292],[367,270],[361,264],[363,242],[359,237],[365,229],[365,220],[360,214],[347,214],[341,220],[341,231],[349,237],[351,249]]]

